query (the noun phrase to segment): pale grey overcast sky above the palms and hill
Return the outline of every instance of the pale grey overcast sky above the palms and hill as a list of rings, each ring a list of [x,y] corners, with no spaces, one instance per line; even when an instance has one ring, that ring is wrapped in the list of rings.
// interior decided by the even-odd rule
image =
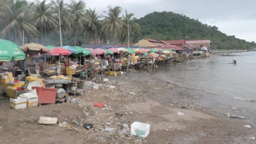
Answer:
[[[30,0],[31,1],[31,0]],[[69,2],[69,0],[65,0]],[[182,13],[202,23],[215,25],[227,35],[256,42],[256,0],[84,0],[98,13],[108,5],[121,6],[140,18],[153,11]]]

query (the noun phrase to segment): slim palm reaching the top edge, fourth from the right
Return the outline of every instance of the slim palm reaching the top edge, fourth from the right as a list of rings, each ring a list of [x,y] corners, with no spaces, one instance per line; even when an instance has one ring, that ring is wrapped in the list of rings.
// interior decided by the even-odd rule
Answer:
[[[71,19],[72,35],[74,37],[74,45],[77,45],[77,35],[83,30],[83,23],[87,22],[85,16],[85,2],[79,0],[72,1],[69,5],[69,13]]]

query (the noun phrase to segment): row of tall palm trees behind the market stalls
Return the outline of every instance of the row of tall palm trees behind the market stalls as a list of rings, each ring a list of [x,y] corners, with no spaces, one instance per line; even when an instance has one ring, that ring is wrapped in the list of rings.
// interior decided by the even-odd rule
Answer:
[[[96,9],[86,9],[83,0],[0,0],[1,37],[21,43],[24,37],[27,43],[39,42],[43,45],[60,45],[59,13],[63,45],[90,44],[91,40],[103,40],[107,43],[125,43],[140,33],[133,13],[123,11],[121,7],[111,5],[103,14]],[[124,14],[122,14],[124,12]],[[129,21],[129,25],[128,25]]]

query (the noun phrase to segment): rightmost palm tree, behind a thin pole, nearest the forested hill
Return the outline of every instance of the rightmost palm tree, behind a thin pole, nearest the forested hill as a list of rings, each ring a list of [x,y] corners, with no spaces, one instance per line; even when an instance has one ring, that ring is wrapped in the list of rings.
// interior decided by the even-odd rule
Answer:
[[[139,24],[135,22],[136,18],[133,18],[133,13],[127,13],[125,11],[125,15],[123,15],[123,23],[125,25],[123,26],[122,32],[121,32],[121,41],[122,45],[125,42],[126,39],[128,39],[128,21],[129,21],[129,38],[133,38],[136,33],[140,33],[141,27]]]

